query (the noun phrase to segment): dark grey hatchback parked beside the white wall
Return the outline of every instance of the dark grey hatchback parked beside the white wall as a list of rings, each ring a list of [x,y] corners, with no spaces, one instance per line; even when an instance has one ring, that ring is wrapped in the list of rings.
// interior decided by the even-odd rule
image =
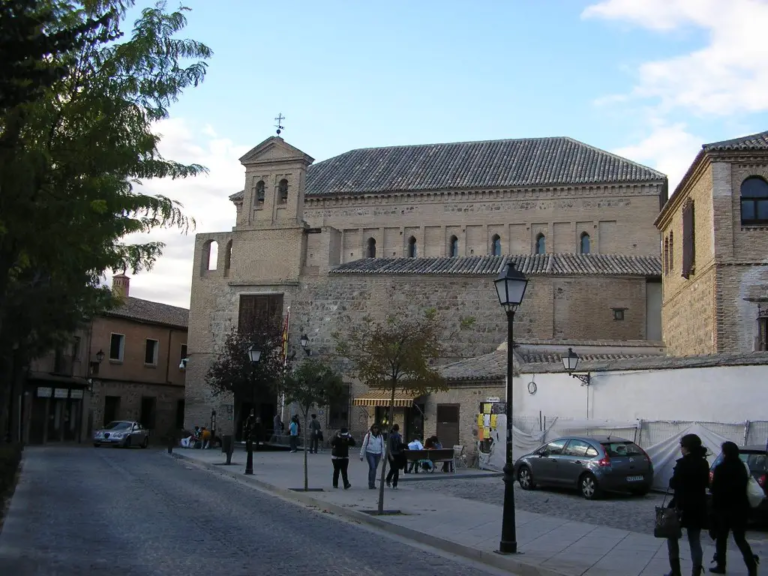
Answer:
[[[515,462],[523,490],[536,486],[576,488],[587,500],[603,492],[645,496],[653,484],[653,463],[631,440],[615,436],[569,436],[541,446]]]

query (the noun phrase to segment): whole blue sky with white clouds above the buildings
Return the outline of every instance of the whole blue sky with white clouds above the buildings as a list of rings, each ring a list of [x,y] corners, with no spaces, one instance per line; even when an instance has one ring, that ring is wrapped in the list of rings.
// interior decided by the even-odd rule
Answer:
[[[137,0],[129,21],[152,3]],[[230,230],[238,158],[274,134],[363,147],[570,136],[680,181],[701,145],[768,130],[768,0],[185,0],[207,77],[158,123],[209,173],[149,180],[196,220],[131,295],[189,306],[194,234]],[[175,4],[169,4],[175,7]],[[109,281],[109,276],[107,276]]]

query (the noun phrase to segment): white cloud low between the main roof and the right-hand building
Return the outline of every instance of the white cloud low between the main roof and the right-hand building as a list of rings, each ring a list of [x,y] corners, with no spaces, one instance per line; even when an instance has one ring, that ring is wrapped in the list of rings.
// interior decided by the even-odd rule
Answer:
[[[671,194],[700,149],[701,138],[690,134],[685,124],[656,122],[647,138],[613,152],[637,162],[653,164],[669,177]]]

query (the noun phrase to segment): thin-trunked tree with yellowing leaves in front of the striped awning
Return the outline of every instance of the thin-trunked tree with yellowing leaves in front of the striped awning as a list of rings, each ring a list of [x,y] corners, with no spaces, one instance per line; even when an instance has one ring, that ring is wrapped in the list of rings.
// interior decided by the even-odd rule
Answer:
[[[461,328],[471,324],[462,320]],[[395,394],[409,392],[416,396],[445,389],[434,362],[443,355],[444,327],[434,310],[413,318],[392,315],[384,322],[365,318],[348,334],[334,334],[336,350],[352,364],[352,374],[371,388],[390,393],[389,422],[394,421]],[[450,339],[448,339],[449,341]],[[382,458],[378,513],[384,513],[384,476],[389,442]]]

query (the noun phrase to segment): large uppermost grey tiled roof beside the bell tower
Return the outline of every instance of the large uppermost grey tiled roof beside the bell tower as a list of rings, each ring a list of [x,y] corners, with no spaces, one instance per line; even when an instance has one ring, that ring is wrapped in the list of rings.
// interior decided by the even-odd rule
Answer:
[[[663,182],[661,172],[566,137],[350,150],[307,169],[306,196]],[[242,198],[243,192],[230,196]]]

